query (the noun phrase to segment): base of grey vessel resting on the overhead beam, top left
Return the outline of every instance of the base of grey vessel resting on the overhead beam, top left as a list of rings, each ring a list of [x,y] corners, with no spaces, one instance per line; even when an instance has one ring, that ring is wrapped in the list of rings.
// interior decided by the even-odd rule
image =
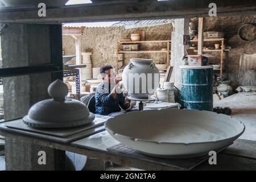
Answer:
[[[1,0],[5,6],[36,6],[39,3],[45,3],[46,6],[65,6],[68,0]]]

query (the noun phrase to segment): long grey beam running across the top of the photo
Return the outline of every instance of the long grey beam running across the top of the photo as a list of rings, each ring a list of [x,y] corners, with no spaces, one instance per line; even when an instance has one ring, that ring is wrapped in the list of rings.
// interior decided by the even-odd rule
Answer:
[[[217,16],[256,14],[254,0],[176,0],[139,1],[110,5],[72,5],[48,8],[46,17],[38,16],[38,8],[5,8],[0,10],[0,23],[64,23],[99,20],[132,20],[154,18],[193,18],[208,16],[209,3],[216,3]]]

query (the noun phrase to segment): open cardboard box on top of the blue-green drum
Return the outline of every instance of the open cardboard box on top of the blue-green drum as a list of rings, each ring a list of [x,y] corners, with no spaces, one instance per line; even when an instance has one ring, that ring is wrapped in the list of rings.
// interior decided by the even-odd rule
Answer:
[[[208,57],[211,55],[196,55],[193,49],[186,49],[189,66],[203,66],[208,64]]]

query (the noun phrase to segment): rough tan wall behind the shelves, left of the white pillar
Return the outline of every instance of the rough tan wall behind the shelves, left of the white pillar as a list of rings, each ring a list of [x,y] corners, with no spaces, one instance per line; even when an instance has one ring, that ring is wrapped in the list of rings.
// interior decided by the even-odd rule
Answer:
[[[92,52],[93,67],[111,64],[115,67],[116,43],[123,38],[129,38],[133,31],[145,31],[146,40],[170,40],[172,24],[143,28],[125,29],[123,27],[94,27],[85,28],[81,40],[82,52]],[[166,48],[163,43],[143,43],[143,50],[159,50]],[[75,55],[75,40],[71,36],[63,36],[63,49],[65,55]],[[125,63],[133,57],[152,59],[155,63],[166,62],[166,53],[125,53]],[[71,60],[75,63],[75,59]]]

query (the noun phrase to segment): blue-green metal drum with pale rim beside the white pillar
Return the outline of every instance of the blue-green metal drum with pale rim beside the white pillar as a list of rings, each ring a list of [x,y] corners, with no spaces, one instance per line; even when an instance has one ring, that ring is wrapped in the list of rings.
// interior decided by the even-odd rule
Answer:
[[[186,109],[213,110],[213,67],[181,66],[181,101]]]

